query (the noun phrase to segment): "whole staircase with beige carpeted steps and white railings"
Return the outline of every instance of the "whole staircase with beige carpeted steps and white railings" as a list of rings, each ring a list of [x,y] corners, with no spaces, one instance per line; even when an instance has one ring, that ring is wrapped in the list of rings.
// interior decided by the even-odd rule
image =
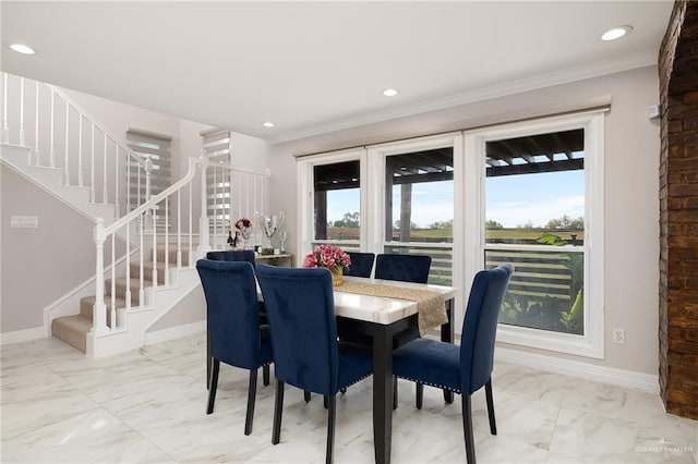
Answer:
[[[231,198],[237,198],[241,217],[252,216],[242,204],[252,211],[258,208],[256,198],[263,198],[263,192],[233,191],[233,183],[236,188],[266,188],[268,171],[236,170],[202,152],[189,158],[184,178],[151,195],[149,161],[133,154],[60,89],[7,73],[0,76],[0,161],[95,223],[94,280],[57,300],[61,303],[45,314],[46,331],[50,327],[53,337],[89,356],[142,346],[147,329],[201,285],[195,260],[226,245],[233,217]],[[25,102],[27,89],[34,96]],[[9,108],[13,106],[15,115]],[[40,114],[44,109],[50,117]],[[75,121],[77,126],[71,125]],[[229,152],[229,145],[220,149],[220,139],[205,143],[204,148]],[[233,181],[234,175],[249,178]],[[136,178],[143,184],[130,183]],[[193,185],[196,179],[200,185]],[[128,192],[137,192],[139,204],[128,203],[134,196]],[[198,210],[194,192],[201,199]],[[245,195],[249,198],[242,199]]]

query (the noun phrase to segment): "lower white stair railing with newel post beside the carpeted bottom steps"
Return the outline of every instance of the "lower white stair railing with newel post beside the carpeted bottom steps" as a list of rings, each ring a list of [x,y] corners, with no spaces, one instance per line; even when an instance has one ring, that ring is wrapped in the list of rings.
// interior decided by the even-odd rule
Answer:
[[[201,203],[198,209],[193,208],[194,192],[196,185],[196,170],[200,170]],[[210,202],[216,202],[216,210],[224,211],[228,222],[234,211],[229,199],[238,187],[233,182],[226,183],[228,195],[214,195],[209,187],[210,179],[230,179],[238,176],[251,178],[246,183],[260,185],[258,193],[253,196],[256,203],[250,206],[260,208],[262,198],[268,188],[268,170],[256,172],[253,170],[236,169],[231,164],[210,162],[205,156],[190,158],[186,174],[158,195],[153,196],[141,206],[124,215],[109,225],[98,221],[95,225],[94,239],[96,244],[96,301],[93,307],[93,334],[96,337],[124,329],[124,317],[121,313],[128,312],[133,303],[132,296],[137,294],[139,306],[154,305],[154,291],[159,285],[158,274],[165,272],[163,281],[170,285],[171,279],[177,279],[182,267],[194,267],[197,257],[204,256],[208,249],[226,246],[227,233],[217,220],[210,220],[208,209]],[[161,211],[161,218],[158,216]],[[170,212],[171,211],[171,212]],[[198,213],[198,233],[194,233],[194,217]],[[249,212],[245,212],[249,215]],[[171,217],[170,217],[171,216]],[[120,239],[125,237],[125,239]],[[107,246],[105,246],[107,245]],[[196,245],[196,249],[194,249]],[[109,249],[109,258],[105,259],[105,247]],[[147,248],[151,247],[148,251]],[[183,253],[188,251],[186,264]],[[152,252],[152,253],[148,253]],[[173,253],[172,253],[173,252]],[[176,262],[170,262],[170,254],[173,254]],[[125,256],[125,279],[123,280],[123,307],[119,307],[117,298],[117,267]],[[163,262],[158,260],[163,257]],[[109,261],[109,262],[107,262]],[[152,261],[151,279],[145,279],[146,262]],[[149,262],[148,262],[149,265]],[[137,269],[139,279],[132,279],[131,269]],[[107,271],[106,269],[110,269]],[[111,278],[110,291],[106,292],[107,274]],[[146,285],[146,281],[149,283]],[[136,283],[137,282],[137,283]],[[137,288],[132,288],[133,284]],[[110,321],[107,323],[107,301],[109,293]],[[135,298],[134,298],[135,300]]]

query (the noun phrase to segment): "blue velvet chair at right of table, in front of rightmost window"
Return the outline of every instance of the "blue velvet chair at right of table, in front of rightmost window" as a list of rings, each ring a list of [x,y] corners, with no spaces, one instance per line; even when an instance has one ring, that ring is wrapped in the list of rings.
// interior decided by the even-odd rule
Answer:
[[[513,272],[514,267],[506,264],[476,274],[462,322],[460,346],[422,338],[393,353],[395,376],[460,393],[468,464],[476,462],[470,395],[483,386],[490,431],[497,435],[492,398],[494,341],[504,293]]]

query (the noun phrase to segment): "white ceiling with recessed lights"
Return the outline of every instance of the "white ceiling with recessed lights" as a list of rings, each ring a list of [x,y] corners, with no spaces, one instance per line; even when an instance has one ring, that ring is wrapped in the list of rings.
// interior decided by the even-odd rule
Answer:
[[[1,64],[278,143],[655,64],[672,5],[4,0]]]

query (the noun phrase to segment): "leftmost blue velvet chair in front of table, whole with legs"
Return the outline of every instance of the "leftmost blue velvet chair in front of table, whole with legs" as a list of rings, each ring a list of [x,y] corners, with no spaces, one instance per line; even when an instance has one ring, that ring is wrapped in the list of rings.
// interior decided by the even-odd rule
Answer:
[[[252,432],[257,369],[274,361],[268,326],[260,326],[254,268],[248,261],[200,259],[196,270],[206,297],[213,370],[206,414],[216,401],[220,363],[250,370],[244,435]]]

